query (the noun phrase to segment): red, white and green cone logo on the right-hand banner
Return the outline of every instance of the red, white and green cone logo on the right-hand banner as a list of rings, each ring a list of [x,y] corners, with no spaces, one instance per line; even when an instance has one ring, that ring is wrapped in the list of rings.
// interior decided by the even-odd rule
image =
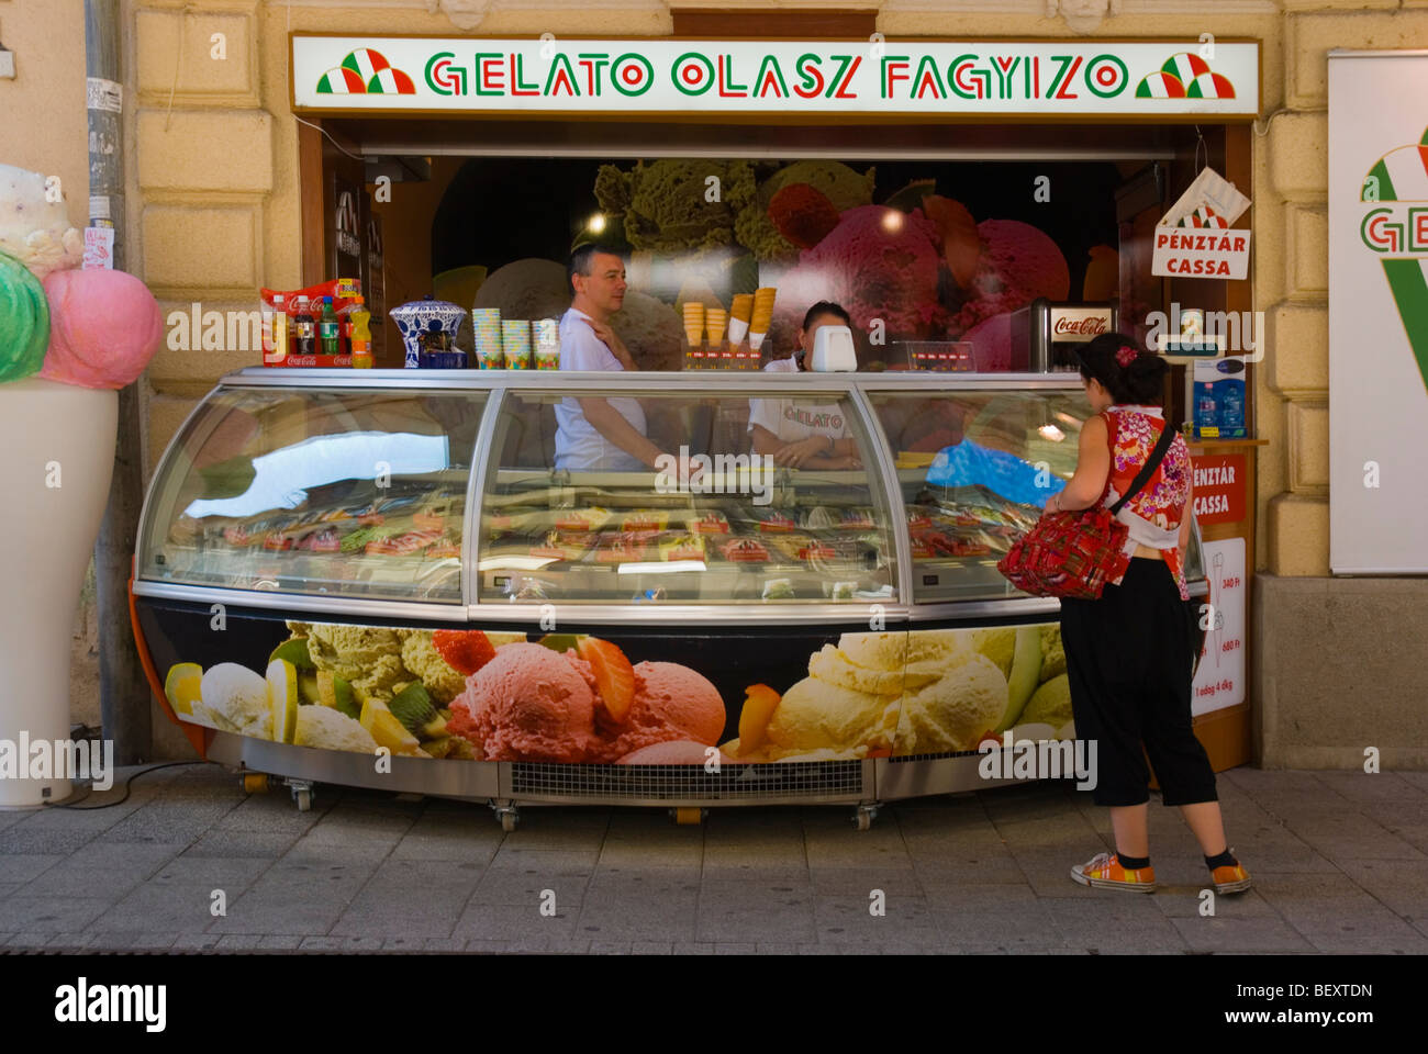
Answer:
[[[1418,143],[1389,150],[1359,189],[1358,233],[1378,253],[1418,373],[1428,386],[1428,129]]]

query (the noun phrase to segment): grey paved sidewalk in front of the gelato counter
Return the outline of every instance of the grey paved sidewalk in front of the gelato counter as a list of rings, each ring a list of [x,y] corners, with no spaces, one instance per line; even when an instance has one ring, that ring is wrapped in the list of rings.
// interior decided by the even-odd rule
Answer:
[[[116,790],[84,805],[119,798]],[[0,945],[614,954],[1428,953],[1428,773],[1220,777],[1255,888],[1201,917],[1205,868],[1151,807],[1161,887],[1080,887],[1110,847],[1074,788],[851,810],[524,808],[318,788],[244,797],[216,766],[143,776],[81,813],[0,813]],[[874,890],[885,914],[870,913]],[[217,901],[223,914],[214,914]],[[543,913],[543,905],[544,913]]]

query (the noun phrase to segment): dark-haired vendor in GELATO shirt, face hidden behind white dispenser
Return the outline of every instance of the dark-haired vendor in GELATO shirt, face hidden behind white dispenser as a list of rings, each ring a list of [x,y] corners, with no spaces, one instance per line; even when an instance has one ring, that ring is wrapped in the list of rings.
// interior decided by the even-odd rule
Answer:
[[[764,370],[800,373],[798,360],[811,348],[820,326],[853,326],[838,304],[820,301],[808,308],[798,347],[771,360]],[[858,444],[838,403],[810,403],[801,398],[748,400],[748,431],[755,454],[773,454],[774,464],[791,468],[861,468]]]

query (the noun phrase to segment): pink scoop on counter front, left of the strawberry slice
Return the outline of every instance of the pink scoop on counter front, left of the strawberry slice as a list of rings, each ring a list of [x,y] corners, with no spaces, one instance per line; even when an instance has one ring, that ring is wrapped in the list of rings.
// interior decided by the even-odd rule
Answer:
[[[460,711],[470,716],[467,727]],[[503,644],[451,701],[456,730],[487,761],[584,761],[594,733],[594,693],[581,671],[541,644]],[[450,727],[450,726],[448,726]]]

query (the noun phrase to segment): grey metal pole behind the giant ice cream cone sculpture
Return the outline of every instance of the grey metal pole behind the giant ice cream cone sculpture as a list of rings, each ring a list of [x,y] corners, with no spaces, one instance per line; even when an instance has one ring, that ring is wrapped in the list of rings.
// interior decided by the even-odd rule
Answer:
[[[124,113],[119,44],[119,0],[84,0],[90,223],[114,229],[114,267],[124,270]],[[149,683],[129,624],[129,576],[144,493],[139,424],[136,383],[119,393],[114,477],[94,544],[100,720],[104,738],[114,741],[114,764],[120,766],[147,760],[153,744]]]

